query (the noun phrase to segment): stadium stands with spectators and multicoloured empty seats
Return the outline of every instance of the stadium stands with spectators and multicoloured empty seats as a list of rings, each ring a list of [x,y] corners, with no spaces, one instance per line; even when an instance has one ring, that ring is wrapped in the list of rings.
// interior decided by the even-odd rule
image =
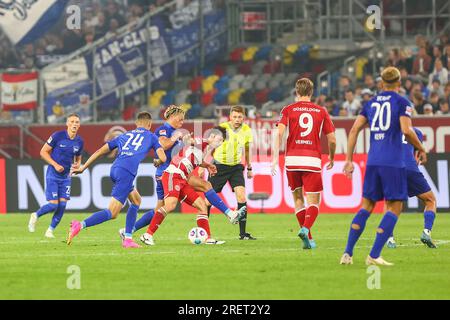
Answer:
[[[128,6],[125,6],[125,1],[119,0],[73,0],[71,4],[82,7],[81,30],[59,32],[63,23],[60,22],[36,43],[20,48],[11,46],[0,33],[0,69],[39,69],[96,40],[114,38],[121,27],[131,28],[139,18],[169,2],[128,0]],[[178,1],[177,8],[191,2]],[[420,1],[414,3],[416,5],[411,6],[414,10],[410,14],[420,12],[424,6]],[[223,6],[221,1],[215,4]],[[395,14],[400,9],[388,1],[385,10]],[[167,14],[165,20],[169,20]],[[398,31],[395,21],[390,22],[386,30],[388,35]],[[426,21],[422,20],[416,24],[408,22],[407,29],[417,34],[424,23]],[[332,116],[349,117],[357,114],[364,100],[377,92],[377,78],[383,66],[396,66],[402,70],[402,93],[412,101],[417,115],[423,115],[425,110],[428,116],[449,113],[450,42],[447,33],[443,32],[436,39],[418,34],[414,44],[386,45],[382,49],[375,55],[366,50],[323,59],[320,57],[327,49],[314,42],[241,44],[228,48],[226,56],[208,61],[204,68],[184,72],[176,81],[156,83],[148,97],[126,97],[119,117],[128,120],[142,109],[150,109],[159,117],[159,109],[173,103],[184,104],[191,118],[212,117],[216,106],[227,104],[254,105],[260,114],[270,116],[293,101],[292,88],[298,77],[318,79],[323,71],[329,72],[329,81],[326,87],[318,83],[316,102],[326,105]],[[354,56],[354,62],[342,67],[343,60],[350,55]],[[74,68],[75,73],[82,72]],[[432,106],[432,112],[428,105]],[[59,104],[53,107],[56,117],[63,117],[69,111]],[[99,109],[99,114],[105,117],[100,120],[118,116],[115,110]],[[11,120],[30,122],[36,118],[22,112],[0,111],[0,121]]]

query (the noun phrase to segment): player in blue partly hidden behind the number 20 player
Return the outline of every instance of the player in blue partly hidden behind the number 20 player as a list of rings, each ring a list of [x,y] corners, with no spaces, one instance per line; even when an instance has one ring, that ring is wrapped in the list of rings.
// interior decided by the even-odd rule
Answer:
[[[417,128],[414,128],[417,137],[423,142],[423,133]],[[405,157],[406,176],[408,181],[408,196],[419,198],[424,206],[424,220],[425,226],[420,237],[420,241],[428,248],[435,249],[436,245],[431,238],[431,231],[433,229],[434,220],[436,218],[436,197],[431,191],[431,187],[425,179],[423,173],[419,169],[416,160],[416,150],[405,139],[403,140],[403,153]],[[394,234],[388,239],[387,247],[395,249],[397,244],[394,239]]]

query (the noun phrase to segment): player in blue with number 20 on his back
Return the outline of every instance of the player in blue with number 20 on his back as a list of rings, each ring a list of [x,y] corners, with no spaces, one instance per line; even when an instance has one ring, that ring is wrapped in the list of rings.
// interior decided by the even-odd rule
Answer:
[[[410,102],[398,94],[401,75],[397,68],[386,68],[382,73],[384,91],[369,101],[355,121],[348,140],[345,174],[351,178],[353,152],[360,131],[370,127],[370,150],[364,177],[363,203],[353,219],[347,247],[341,264],[353,264],[353,249],[364,231],[366,222],[378,201],[385,200],[387,212],[378,229],[373,248],[366,259],[367,265],[391,266],[381,257],[381,251],[392,234],[408,199],[406,165],[402,150],[402,135],[415,149],[418,159],[425,163],[427,155],[411,122]]]

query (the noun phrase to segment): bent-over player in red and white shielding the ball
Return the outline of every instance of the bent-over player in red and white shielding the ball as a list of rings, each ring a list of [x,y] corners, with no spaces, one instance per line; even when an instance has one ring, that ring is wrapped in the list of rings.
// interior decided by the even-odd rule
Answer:
[[[195,186],[189,184],[193,179],[194,170],[202,167],[209,174],[217,173],[215,165],[211,164],[212,153],[226,139],[226,130],[215,127],[211,130],[208,139],[192,138],[186,136],[185,147],[180,153],[172,158],[169,167],[162,176],[163,189],[165,192],[164,206],[160,208],[153,217],[147,232],[142,235],[141,241],[147,245],[154,245],[153,235],[158,230],[167,215],[175,210],[178,202],[185,202],[198,210],[197,226],[205,229],[208,234],[207,244],[222,244],[211,238],[209,227],[208,207],[203,198],[199,196],[196,189],[202,189],[198,182],[193,181]],[[212,188],[212,187],[211,187]],[[238,211],[230,212],[230,221],[237,223],[244,217],[246,207]]]

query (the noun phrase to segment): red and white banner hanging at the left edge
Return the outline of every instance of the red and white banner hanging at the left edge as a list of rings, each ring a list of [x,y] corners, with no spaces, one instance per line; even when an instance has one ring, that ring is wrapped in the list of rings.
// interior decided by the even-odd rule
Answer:
[[[7,111],[33,110],[38,106],[38,73],[2,74],[1,103]]]

